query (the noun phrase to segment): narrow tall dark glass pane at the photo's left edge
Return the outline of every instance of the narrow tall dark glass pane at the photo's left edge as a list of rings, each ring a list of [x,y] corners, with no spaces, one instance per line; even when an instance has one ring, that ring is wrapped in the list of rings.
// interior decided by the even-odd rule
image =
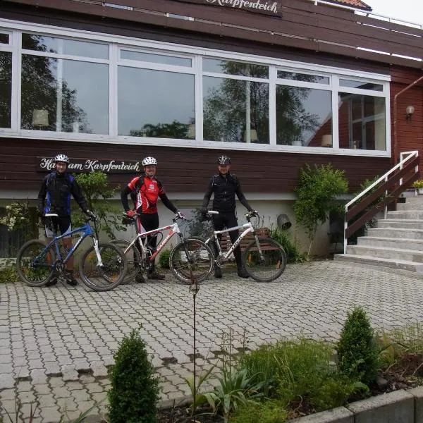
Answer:
[[[12,54],[0,51],[0,128],[11,128]]]

